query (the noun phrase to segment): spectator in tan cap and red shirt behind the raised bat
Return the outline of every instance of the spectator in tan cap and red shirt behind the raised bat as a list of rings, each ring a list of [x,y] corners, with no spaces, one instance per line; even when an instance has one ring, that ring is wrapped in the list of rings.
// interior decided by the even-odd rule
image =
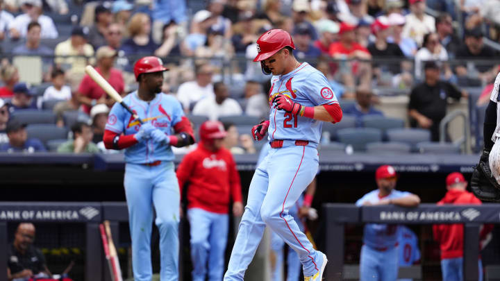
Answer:
[[[117,51],[108,46],[101,46],[101,48],[97,49],[97,67],[95,69],[118,94],[124,95],[125,84],[122,71],[113,67],[116,56]],[[77,96],[78,101],[83,105],[83,112],[87,114],[90,114],[90,108],[94,107],[94,105],[104,103],[111,107],[115,103],[115,100],[109,98],[108,94],[88,74],[85,74],[81,80]]]

